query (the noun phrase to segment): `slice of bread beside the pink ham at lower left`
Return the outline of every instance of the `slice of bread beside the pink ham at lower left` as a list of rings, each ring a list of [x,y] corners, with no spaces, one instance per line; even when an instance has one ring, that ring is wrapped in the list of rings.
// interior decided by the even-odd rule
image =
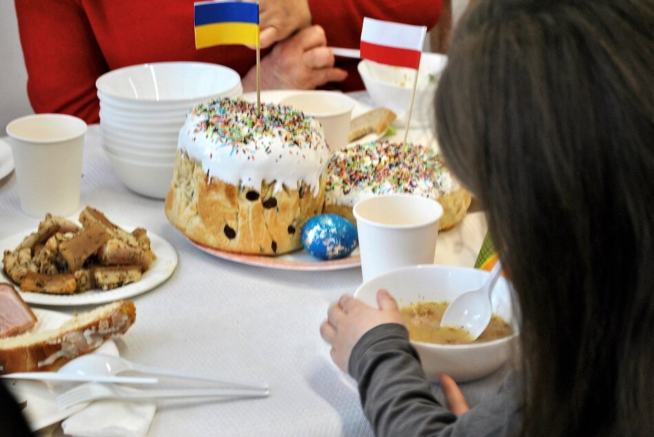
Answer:
[[[0,373],[56,370],[125,334],[135,320],[134,302],[118,301],[76,315],[57,329],[0,339]]]

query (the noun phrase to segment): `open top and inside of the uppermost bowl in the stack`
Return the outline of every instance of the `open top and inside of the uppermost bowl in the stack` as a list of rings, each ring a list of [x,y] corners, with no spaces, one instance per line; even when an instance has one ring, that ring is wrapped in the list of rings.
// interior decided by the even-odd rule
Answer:
[[[241,87],[241,79],[224,65],[160,62],[112,70],[98,78],[96,87],[105,98],[133,107],[175,106],[230,94]]]

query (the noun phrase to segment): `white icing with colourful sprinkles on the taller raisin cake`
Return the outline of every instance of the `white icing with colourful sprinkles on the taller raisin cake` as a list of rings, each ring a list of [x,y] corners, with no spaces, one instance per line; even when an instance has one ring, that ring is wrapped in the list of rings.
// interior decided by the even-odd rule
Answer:
[[[202,163],[207,180],[275,191],[306,182],[314,194],[330,156],[320,123],[293,107],[220,98],[193,107],[178,148]]]

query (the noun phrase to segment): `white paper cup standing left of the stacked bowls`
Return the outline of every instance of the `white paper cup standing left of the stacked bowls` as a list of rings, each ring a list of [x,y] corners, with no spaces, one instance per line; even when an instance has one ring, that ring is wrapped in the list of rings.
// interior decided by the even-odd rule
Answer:
[[[86,129],[83,120],[64,114],[35,114],[7,125],[25,214],[42,218],[78,209]]]

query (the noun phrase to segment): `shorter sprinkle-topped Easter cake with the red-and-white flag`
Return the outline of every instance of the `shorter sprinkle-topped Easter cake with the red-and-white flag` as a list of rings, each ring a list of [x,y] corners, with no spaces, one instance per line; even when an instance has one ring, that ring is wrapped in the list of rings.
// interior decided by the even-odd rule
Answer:
[[[352,145],[333,153],[327,167],[325,213],[335,213],[356,223],[352,207],[365,198],[409,193],[433,198],[443,206],[439,229],[463,220],[470,193],[433,149],[388,141]]]

